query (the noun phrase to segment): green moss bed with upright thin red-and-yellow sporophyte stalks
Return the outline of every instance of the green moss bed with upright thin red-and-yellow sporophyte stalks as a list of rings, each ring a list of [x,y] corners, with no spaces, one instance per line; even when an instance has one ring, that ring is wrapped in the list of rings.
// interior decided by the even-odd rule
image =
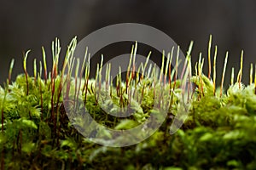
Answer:
[[[58,39],[52,43],[53,65],[49,68],[43,51],[43,62],[35,60],[33,75],[24,74],[0,87],[0,161],[1,169],[254,169],[256,167],[256,65],[250,65],[249,84],[241,82],[241,66],[236,76],[232,69],[230,87],[224,92],[224,77],[228,53],[224,60],[221,84],[216,83],[217,46],[211,63],[212,37],[208,45],[207,74],[204,59],[199,56],[195,71],[191,66],[192,44],[185,61],[177,58],[171,65],[173,51],[163,57],[160,70],[156,65],[142,63],[136,68],[137,44],[122,81],[121,70],[116,80],[110,76],[111,65],[102,74],[103,57],[97,65],[96,77],[90,78],[90,54],[84,60],[75,59],[77,40],[67,46],[67,54],[59,70],[61,47]],[[89,50],[88,50],[89,51]],[[179,62],[184,62],[182,77],[177,77]],[[253,69],[254,65],[254,69]],[[254,70],[254,71],[253,71]],[[254,72],[254,75],[253,75]],[[74,75],[74,76],[72,76]],[[102,81],[102,77],[105,78]],[[236,79],[235,79],[236,78]],[[191,82],[192,87],[182,87]],[[189,83],[190,84],[190,83]],[[219,88],[218,88],[219,87]],[[189,91],[189,89],[192,89]],[[65,93],[63,93],[65,89]],[[75,93],[74,93],[75,92]],[[185,94],[186,95],[183,95]],[[69,95],[72,94],[72,95]],[[108,96],[108,97],[106,97]],[[185,105],[181,102],[184,98]],[[66,98],[68,97],[68,98]],[[102,97],[105,97],[102,101]],[[70,111],[65,102],[72,105]],[[156,102],[157,101],[157,102]],[[129,147],[107,147],[95,144],[79,133],[90,132],[84,127],[83,107],[99,124],[115,130],[127,130],[146,122],[150,117],[165,122],[148,139]],[[185,108],[184,108],[185,107]],[[105,111],[106,108],[110,108]],[[160,111],[167,111],[161,117]],[[119,110],[131,116],[117,116]],[[177,133],[170,127],[180,111],[189,114]],[[67,112],[69,112],[67,116]],[[80,129],[79,129],[80,128]],[[146,133],[146,132],[144,132]],[[114,136],[107,133],[106,143]],[[142,132],[139,135],[143,135]],[[104,140],[104,139],[102,139]],[[130,139],[122,139],[123,142]]]

